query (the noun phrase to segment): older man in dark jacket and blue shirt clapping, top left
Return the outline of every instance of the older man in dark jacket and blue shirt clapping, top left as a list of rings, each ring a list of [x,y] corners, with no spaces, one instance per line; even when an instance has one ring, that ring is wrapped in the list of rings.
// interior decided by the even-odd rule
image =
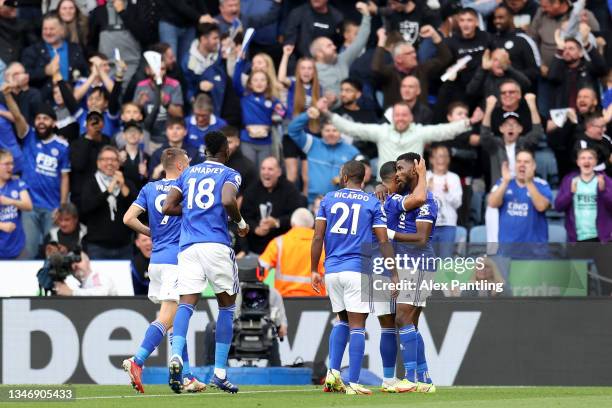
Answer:
[[[56,66],[62,78],[70,82],[89,73],[81,47],[65,38],[66,30],[58,15],[46,14],[42,21],[42,41],[29,46],[21,55],[30,84],[41,89],[43,99],[51,100],[51,77]]]

